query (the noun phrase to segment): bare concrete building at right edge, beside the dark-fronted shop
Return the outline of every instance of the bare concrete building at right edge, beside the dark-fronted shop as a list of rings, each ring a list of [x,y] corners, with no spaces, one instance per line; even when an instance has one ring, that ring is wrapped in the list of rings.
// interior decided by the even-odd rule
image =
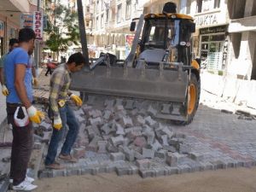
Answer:
[[[256,79],[256,0],[228,2],[230,15],[229,72],[240,79]]]

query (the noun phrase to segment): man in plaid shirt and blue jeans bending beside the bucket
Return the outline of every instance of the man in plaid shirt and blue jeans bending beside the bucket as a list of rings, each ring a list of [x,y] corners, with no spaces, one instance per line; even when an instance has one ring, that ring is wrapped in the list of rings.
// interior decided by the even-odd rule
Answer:
[[[59,158],[69,162],[77,162],[70,152],[79,133],[79,123],[72,108],[68,107],[67,99],[73,100],[77,106],[82,105],[80,97],[73,95],[69,91],[69,85],[71,83],[71,73],[81,70],[84,66],[84,61],[84,56],[81,53],[75,53],[68,58],[67,63],[57,67],[50,77],[49,116],[52,117],[54,129],[49,142],[48,154],[44,161],[45,168],[63,168],[55,161],[55,157],[66,124],[69,129]]]

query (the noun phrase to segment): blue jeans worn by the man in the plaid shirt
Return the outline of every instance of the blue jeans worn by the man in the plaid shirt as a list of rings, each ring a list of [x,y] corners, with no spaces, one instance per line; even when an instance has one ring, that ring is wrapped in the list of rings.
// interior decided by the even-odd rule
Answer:
[[[66,104],[63,108],[59,108],[59,112],[60,112],[61,121],[62,121],[62,128],[59,131],[56,129],[53,129],[52,136],[49,142],[48,154],[44,161],[44,164],[46,166],[55,162],[58,145],[66,129],[65,127],[66,124],[68,125],[69,130],[67,132],[65,143],[61,148],[61,154],[63,155],[70,154],[71,148],[73,147],[73,143],[75,143],[75,140],[79,133],[79,123],[74,116],[73,110],[69,108],[68,105]]]

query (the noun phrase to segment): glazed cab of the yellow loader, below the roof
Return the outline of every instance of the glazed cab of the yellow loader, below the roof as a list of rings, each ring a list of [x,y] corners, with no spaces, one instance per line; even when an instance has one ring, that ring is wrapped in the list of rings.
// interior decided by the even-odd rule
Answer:
[[[191,63],[191,34],[195,23],[188,15],[145,15],[139,58],[150,63],[159,61]]]

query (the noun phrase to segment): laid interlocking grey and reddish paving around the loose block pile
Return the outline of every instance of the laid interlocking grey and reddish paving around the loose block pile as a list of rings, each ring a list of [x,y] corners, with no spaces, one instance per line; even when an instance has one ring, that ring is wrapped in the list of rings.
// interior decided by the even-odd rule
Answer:
[[[150,161],[150,166],[139,169],[134,162],[111,160],[108,154],[86,151],[85,158],[76,164],[63,163],[66,169],[42,170],[39,177],[56,177],[101,172],[118,175],[139,173],[142,177],[158,177],[183,172],[216,170],[220,168],[256,165],[256,129],[254,120],[239,119],[231,113],[201,105],[192,124],[172,125],[172,130],[185,134],[183,144],[191,147],[187,155],[177,155],[177,165],[168,166],[160,158]]]

